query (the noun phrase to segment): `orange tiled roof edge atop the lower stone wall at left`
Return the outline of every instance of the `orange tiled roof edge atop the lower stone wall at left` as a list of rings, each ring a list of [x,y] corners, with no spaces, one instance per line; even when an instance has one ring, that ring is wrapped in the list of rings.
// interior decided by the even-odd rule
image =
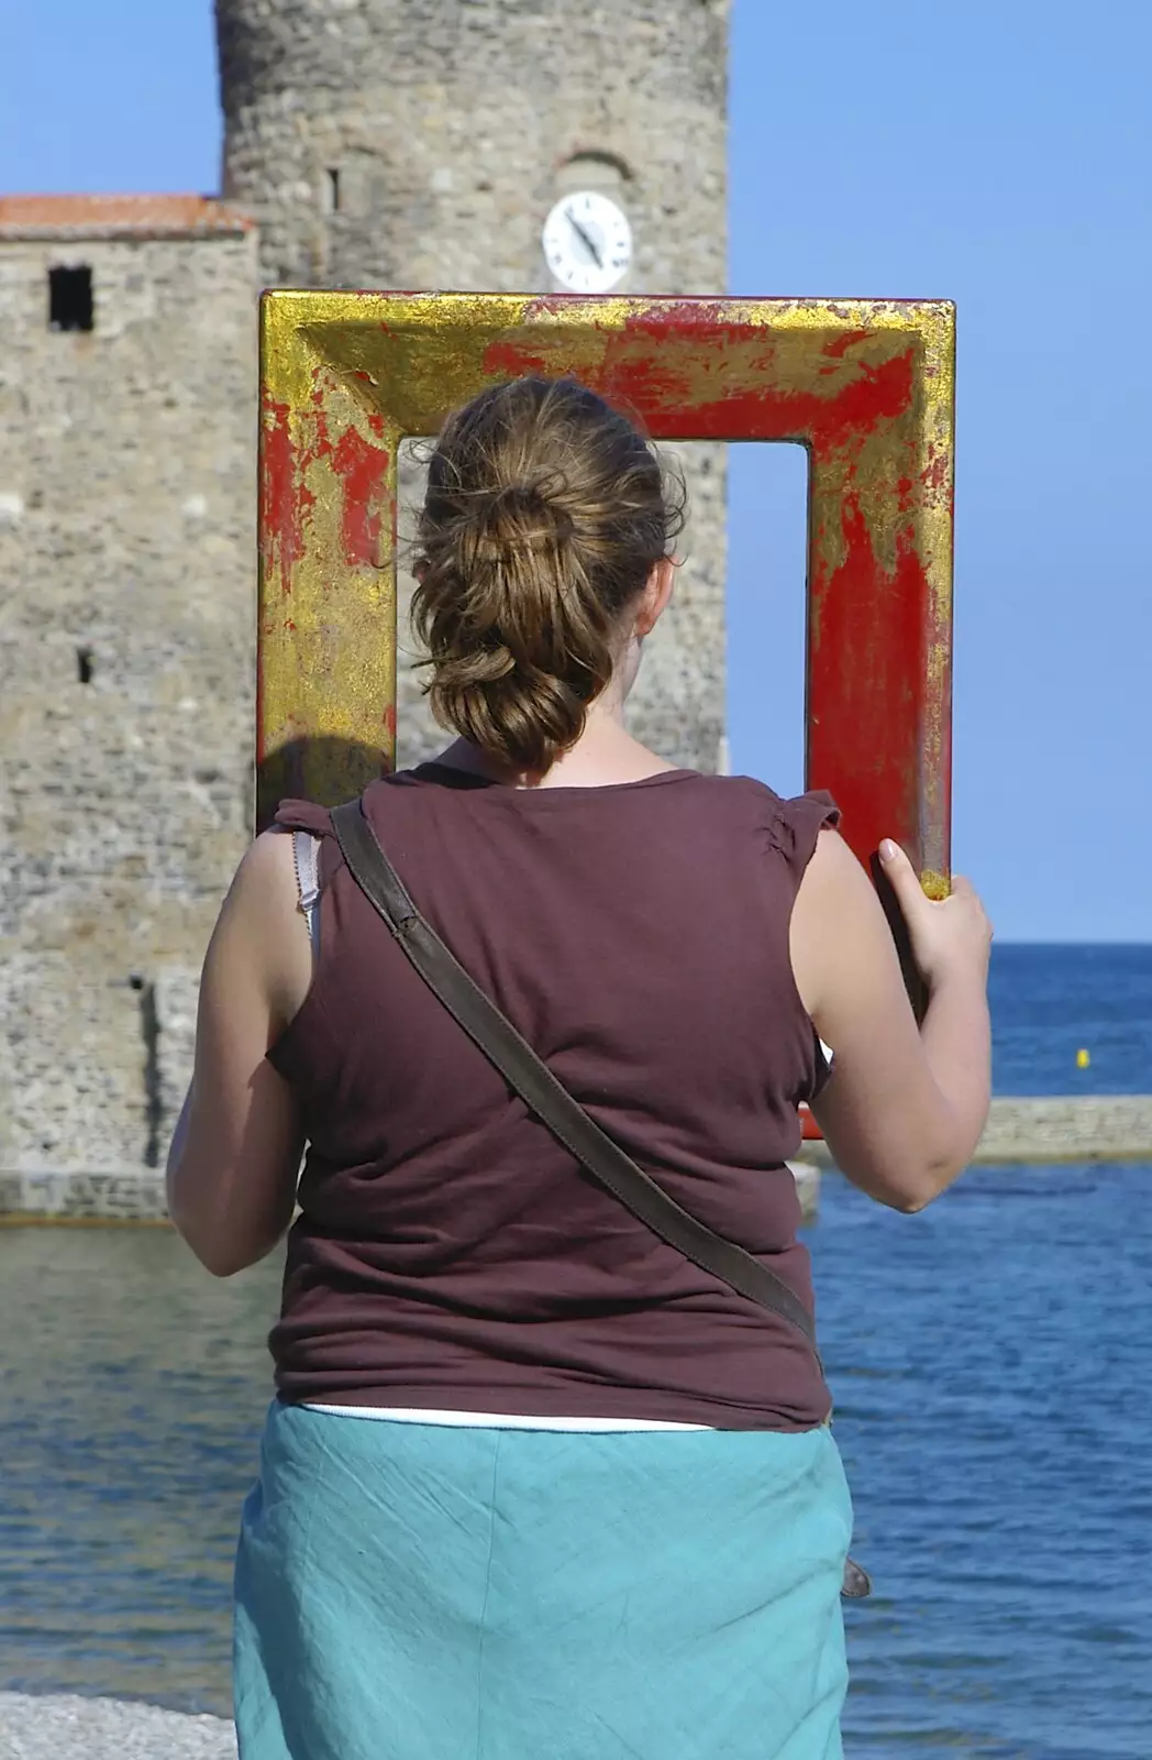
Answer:
[[[253,227],[211,195],[0,195],[0,239],[236,238]]]

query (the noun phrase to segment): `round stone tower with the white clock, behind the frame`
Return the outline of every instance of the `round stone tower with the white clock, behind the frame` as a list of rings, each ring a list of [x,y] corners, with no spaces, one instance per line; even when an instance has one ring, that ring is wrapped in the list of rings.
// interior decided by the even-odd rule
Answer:
[[[549,289],[549,209],[600,190],[635,239],[619,290],[723,292],[728,0],[216,0],[216,28],[223,194],[266,283]],[[688,567],[633,727],[712,769],[723,452],[686,452]],[[403,667],[399,700],[406,760],[436,736]]]

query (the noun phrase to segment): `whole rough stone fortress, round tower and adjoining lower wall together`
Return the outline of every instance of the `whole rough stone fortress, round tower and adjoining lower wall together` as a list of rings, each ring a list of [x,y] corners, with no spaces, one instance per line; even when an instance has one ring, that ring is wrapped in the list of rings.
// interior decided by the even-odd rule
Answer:
[[[0,199],[0,1211],[158,1206],[252,822],[259,287],[545,289],[568,188],[624,208],[623,289],[725,287],[728,0],[216,0],[216,26],[222,201]],[[635,722],[711,769],[723,452],[684,452]],[[401,762],[429,750],[410,676],[399,727]]]

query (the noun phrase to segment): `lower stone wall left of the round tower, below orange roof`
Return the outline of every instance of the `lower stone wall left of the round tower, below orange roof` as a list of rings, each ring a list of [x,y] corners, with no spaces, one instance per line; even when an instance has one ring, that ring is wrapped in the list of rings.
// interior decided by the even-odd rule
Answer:
[[[167,1148],[165,972],[252,815],[255,278],[241,227],[0,238],[0,1169]]]

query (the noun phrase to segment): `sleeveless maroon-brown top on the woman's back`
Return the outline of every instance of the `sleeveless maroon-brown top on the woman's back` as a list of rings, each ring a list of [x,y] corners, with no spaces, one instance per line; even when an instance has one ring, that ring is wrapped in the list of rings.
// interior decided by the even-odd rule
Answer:
[[[788,920],[823,794],[667,771],[517,790],[422,766],[364,810],[415,905],[593,1118],[811,1308]],[[308,1133],[271,1334],[287,1401],[807,1429],[804,1339],[637,1221],[436,1001],[320,832],[320,952],[269,1061]]]

